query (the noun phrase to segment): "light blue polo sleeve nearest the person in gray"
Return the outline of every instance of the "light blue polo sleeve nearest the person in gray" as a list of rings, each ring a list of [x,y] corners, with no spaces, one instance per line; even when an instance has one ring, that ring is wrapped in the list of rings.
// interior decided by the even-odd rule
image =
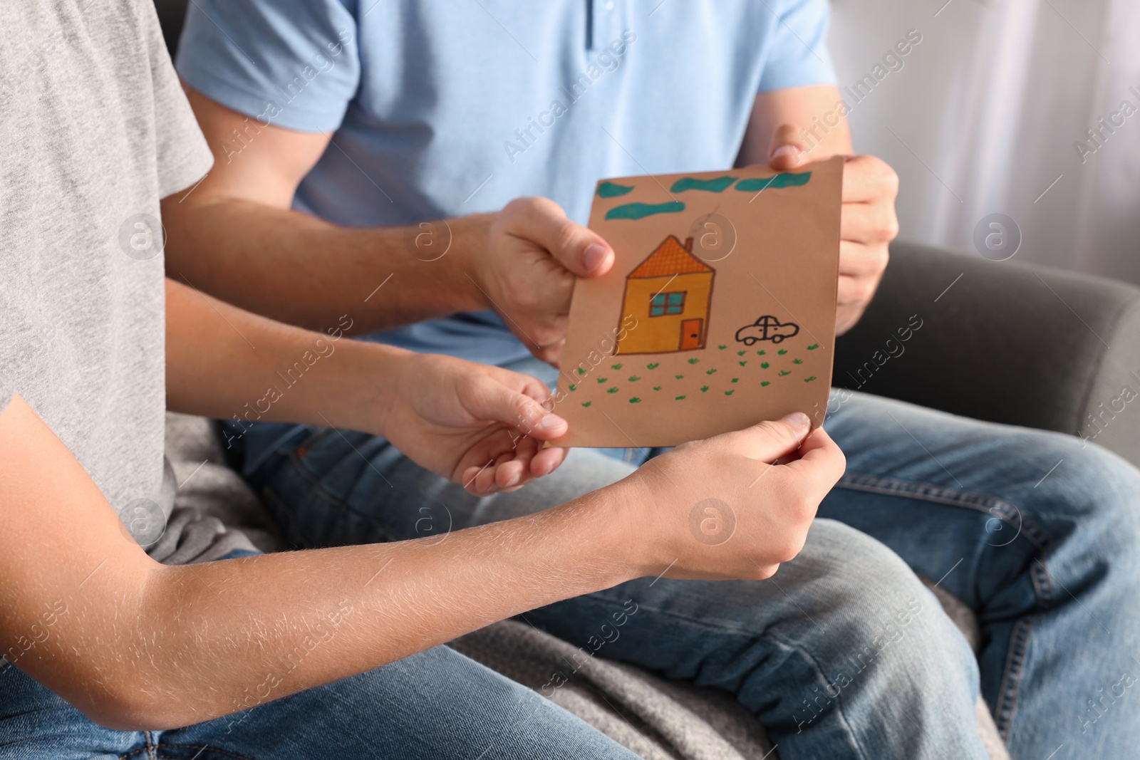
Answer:
[[[207,98],[302,132],[340,126],[360,81],[357,24],[340,0],[195,0],[178,73]]]

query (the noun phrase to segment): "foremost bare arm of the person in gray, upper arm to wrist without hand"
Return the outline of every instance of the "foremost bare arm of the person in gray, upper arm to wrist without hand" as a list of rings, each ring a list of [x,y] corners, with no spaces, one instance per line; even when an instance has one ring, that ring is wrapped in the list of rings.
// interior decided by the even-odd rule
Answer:
[[[598,492],[430,539],[163,566],[18,398],[0,414],[0,502],[3,653],[121,729],[238,712],[646,564],[613,528],[625,500]]]

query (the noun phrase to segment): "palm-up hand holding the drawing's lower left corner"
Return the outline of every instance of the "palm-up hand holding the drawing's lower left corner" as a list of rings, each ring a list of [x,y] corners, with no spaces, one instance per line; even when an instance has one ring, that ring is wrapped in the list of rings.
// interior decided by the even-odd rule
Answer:
[[[534,377],[433,354],[407,354],[396,371],[382,434],[469,492],[519,488],[565,458],[565,449],[540,448],[567,423],[543,408],[551,392]]]

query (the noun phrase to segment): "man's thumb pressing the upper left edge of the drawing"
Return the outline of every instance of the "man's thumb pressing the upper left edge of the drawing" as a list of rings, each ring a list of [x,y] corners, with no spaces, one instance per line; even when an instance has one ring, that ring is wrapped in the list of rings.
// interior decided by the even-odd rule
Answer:
[[[562,207],[548,198],[522,198],[519,221],[510,231],[546,248],[569,271],[579,277],[604,275],[613,265],[610,244],[587,227],[567,219]]]

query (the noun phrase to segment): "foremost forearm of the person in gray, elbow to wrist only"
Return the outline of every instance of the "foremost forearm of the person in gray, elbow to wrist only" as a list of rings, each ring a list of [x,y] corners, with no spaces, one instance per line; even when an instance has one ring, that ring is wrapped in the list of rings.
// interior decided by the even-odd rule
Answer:
[[[583,540],[604,533],[591,524],[604,509],[571,504],[442,539],[162,569],[133,676],[162,684],[163,710],[147,706],[138,722],[244,710],[628,580],[628,566]]]

